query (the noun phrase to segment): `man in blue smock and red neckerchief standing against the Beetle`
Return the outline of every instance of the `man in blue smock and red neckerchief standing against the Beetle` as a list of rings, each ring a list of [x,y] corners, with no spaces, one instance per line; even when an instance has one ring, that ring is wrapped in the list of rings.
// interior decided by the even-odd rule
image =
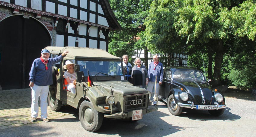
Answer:
[[[157,94],[156,97],[158,96],[158,92],[160,88],[159,85],[162,84],[163,73],[164,73],[163,64],[159,62],[158,59],[159,59],[158,56],[154,55],[153,56],[154,61],[149,64],[149,70],[148,70],[149,83],[147,87],[147,91],[150,91],[150,92],[152,92],[154,88]],[[155,84],[155,77],[156,77],[156,84]],[[154,101],[153,104],[156,106],[156,101]]]

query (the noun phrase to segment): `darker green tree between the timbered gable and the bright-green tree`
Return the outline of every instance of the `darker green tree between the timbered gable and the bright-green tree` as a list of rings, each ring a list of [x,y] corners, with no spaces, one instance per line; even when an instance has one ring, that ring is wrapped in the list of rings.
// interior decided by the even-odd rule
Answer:
[[[116,56],[124,54],[136,55],[136,49],[145,49],[143,35],[146,26],[144,20],[148,16],[152,0],[109,0],[111,8],[122,26],[122,31],[111,32],[109,52]],[[147,56],[146,56],[147,57]],[[147,61],[145,62],[147,63]],[[145,65],[147,66],[147,65]]]

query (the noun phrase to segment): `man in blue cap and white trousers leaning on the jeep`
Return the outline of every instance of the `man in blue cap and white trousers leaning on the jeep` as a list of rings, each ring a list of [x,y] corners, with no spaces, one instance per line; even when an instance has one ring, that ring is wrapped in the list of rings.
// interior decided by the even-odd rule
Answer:
[[[29,73],[29,86],[32,89],[32,103],[31,103],[31,121],[35,122],[38,116],[38,97],[40,97],[41,106],[41,120],[49,122],[47,119],[47,96],[49,92],[49,85],[53,84],[52,65],[61,61],[63,56],[67,55],[68,51],[64,51],[56,58],[49,58],[50,51],[43,49],[41,57],[34,60]]]

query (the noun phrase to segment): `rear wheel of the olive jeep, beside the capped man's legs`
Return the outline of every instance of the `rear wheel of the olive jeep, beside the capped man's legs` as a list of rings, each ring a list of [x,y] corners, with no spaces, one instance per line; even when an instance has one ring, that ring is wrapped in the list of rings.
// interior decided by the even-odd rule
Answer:
[[[56,94],[53,89],[49,91],[48,94],[49,106],[53,111],[58,111],[61,108],[62,101],[56,99]]]

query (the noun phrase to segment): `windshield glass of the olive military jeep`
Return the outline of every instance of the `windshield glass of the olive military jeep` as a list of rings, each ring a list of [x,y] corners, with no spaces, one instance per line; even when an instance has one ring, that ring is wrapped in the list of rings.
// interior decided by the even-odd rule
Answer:
[[[80,71],[84,72],[85,76],[120,76],[123,75],[119,67],[121,61],[77,61],[80,66]]]

